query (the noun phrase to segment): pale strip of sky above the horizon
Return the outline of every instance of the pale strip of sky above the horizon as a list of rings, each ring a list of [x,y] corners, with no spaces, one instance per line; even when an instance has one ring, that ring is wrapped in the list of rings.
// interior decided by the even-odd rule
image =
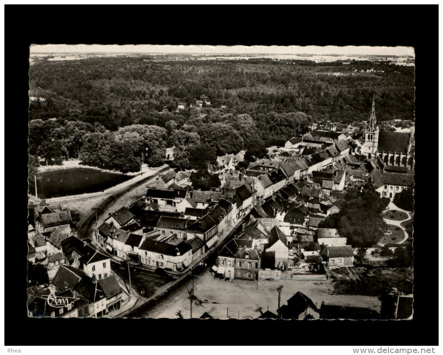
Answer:
[[[32,45],[32,53],[195,53],[195,54],[360,54],[412,55],[413,47],[370,46],[173,46],[173,45],[99,45],[46,44]]]

